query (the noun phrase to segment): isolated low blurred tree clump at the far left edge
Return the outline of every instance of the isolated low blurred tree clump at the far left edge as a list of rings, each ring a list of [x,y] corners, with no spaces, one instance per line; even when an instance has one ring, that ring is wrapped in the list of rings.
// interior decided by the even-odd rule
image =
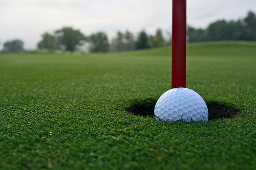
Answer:
[[[4,43],[3,53],[12,53],[12,52],[22,52],[24,51],[23,48],[24,42],[22,40],[13,40],[7,41]]]

